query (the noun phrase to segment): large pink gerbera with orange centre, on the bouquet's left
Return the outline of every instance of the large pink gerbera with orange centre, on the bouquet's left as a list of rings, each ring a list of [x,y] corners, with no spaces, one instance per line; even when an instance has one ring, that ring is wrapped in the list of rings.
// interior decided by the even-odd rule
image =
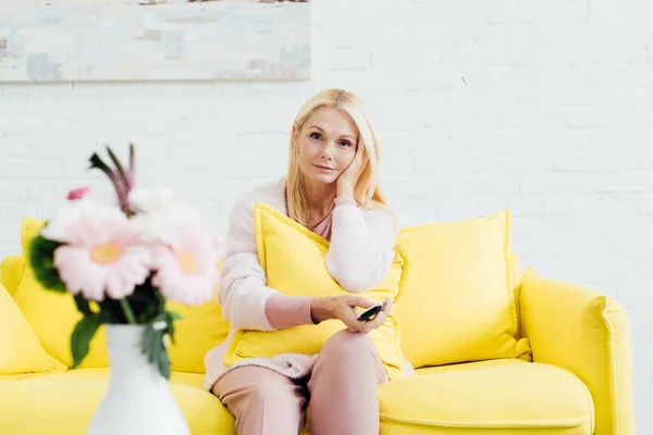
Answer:
[[[138,245],[126,219],[81,219],[67,241],[54,251],[54,265],[73,295],[82,293],[96,301],[104,295],[122,299],[150,274],[152,252]]]

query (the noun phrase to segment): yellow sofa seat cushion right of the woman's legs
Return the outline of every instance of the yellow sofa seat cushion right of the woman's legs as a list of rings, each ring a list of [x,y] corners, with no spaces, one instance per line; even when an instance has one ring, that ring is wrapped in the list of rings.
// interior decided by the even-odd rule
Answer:
[[[564,369],[519,359],[420,369],[379,386],[381,432],[591,435],[592,396]]]

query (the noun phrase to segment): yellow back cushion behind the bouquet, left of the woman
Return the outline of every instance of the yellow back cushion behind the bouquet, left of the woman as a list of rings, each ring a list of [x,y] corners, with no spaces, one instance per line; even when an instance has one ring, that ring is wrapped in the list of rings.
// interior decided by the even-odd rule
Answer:
[[[36,237],[45,222],[35,219],[23,220],[22,243],[24,271],[14,295],[14,300],[34,328],[44,348],[67,366],[73,364],[70,337],[75,324],[82,319],[70,294],[59,294],[44,288],[34,277],[28,261],[29,241]],[[201,306],[186,307],[168,303],[169,310],[184,319],[175,322],[175,344],[169,347],[171,370],[178,372],[205,373],[204,357],[218,346],[229,334],[229,322],[222,319],[220,306],[214,299]],[[101,326],[90,349],[79,368],[109,366],[104,328]]]

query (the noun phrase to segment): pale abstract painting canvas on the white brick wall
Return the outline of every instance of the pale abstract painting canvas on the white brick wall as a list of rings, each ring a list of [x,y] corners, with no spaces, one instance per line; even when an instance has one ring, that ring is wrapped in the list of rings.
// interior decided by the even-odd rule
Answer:
[[[308,0],[0,0],[0,82],[309,77]]]

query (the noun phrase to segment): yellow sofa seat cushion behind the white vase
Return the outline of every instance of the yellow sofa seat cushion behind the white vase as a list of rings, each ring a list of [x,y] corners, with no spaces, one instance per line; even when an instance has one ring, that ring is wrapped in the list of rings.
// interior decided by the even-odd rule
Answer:
[[[172,373],[170,389],[193,435],[235,435],[232,414],[201,388],[204,375]],[[0,382],[0,434],[83,435],[109,385],[109,369]]]

